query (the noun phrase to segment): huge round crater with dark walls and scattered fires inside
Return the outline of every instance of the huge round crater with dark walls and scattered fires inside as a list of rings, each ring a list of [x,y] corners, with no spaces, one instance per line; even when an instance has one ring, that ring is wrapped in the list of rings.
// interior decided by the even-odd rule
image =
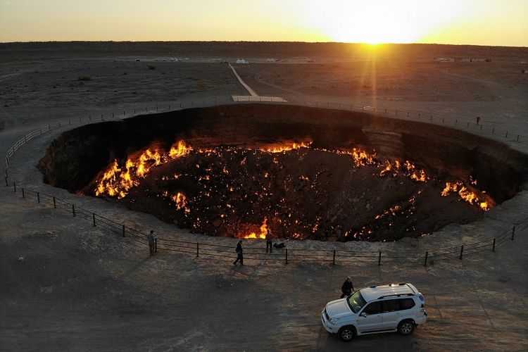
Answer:
[[[233,105],[87,125],[39,162],[57,187],[225,237],[393,241],[478,218],[526,157],[436,125]]]

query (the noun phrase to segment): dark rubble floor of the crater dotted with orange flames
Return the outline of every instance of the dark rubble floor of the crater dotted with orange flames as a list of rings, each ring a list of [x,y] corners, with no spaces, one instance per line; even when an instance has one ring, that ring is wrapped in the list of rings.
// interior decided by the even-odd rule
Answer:
[[[101,173],[96,196],[217,236],[263,239],[271,226],[279,237],[385,241],[439,226],[423,226],[417,208],[424,187],[430,196],[438,182],[410,161],[379,161],[363,149],[316,149],[311,142],[205,149],[180,141],[169,151],[134,153],[125,165],[113,161]],[[450,191],[489,209],[462,182],[436,191],[437,207]]]

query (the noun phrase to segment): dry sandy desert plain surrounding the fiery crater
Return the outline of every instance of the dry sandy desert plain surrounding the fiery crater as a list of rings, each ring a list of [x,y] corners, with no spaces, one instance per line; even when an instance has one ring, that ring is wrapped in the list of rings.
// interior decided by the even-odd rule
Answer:
[[[526,48],[395,46],[378,53],[375,61],[371,55],[341,44],[0,44],[0,152],[5,155],[20,137],[42,125],[87,113],[244,95],[225,63],[237,58],[252,62],[235,67],[260,95],[362,103],[467,121],[479,115],[488,126],[528,136],[528,75],[521,73]],[[434,57],[491,62],[439,63]],[[44,184],[35,165],[68,128],[23,146],[11,159],[11,180],[130,227],[234,246],[234,239],[191,234],[151,215]],[[528,152],[515,137],[486,135]],[[244,267],[233,267],[228,259],[184,253],[161,251],[149,257],[144,246],[22,199],[12,187],[0,187],[0,192],[0,346],[7,351],[528,348],[526,232],[516,233],[515,241],[494,253],[427,267],[403,260],[379,267],[248,260]],[[524,185],[477,221],[451,224],[420,240],[332,246],[397,251],[425,250],[439,241],[458,246],[525,224],[527,205]],[[263,242],[247,241],[246,246]],[[291,241],[288,246],[319,249],[327,244]],[[408,338],[380,334],[341,343],[321,326],[320,311],[339,297],[347,275],[353,275],[356,287],[413,282],[426,296],[427,324]]]

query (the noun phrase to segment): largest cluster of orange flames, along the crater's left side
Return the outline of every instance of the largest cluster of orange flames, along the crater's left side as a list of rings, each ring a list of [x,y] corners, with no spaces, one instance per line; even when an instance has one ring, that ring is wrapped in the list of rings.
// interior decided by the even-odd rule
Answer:
[[[125,167],[120,168],[118,161],[113,163],[104,172],[103,177],[97,182],[95,195],[107,194],[124,198],[128,191],[139,184],[139,179],[146,177],[153,166],[167,163],[175,158],[186,156],[192,151],[191,146],[187,146],[183,141],[174,144],[170,151],[161,154],[157,149],[146,149],[139,157],[129,157],[125,162]]]

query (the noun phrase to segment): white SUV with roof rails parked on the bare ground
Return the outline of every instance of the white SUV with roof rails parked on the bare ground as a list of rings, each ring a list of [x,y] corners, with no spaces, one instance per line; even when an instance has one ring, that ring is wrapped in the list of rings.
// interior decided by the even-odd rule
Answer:
[[[399,332],[410,335],[427,320],[425,298],[413,284],[384,284],[328,302],[322,325],[343,341],[356,335]]]

